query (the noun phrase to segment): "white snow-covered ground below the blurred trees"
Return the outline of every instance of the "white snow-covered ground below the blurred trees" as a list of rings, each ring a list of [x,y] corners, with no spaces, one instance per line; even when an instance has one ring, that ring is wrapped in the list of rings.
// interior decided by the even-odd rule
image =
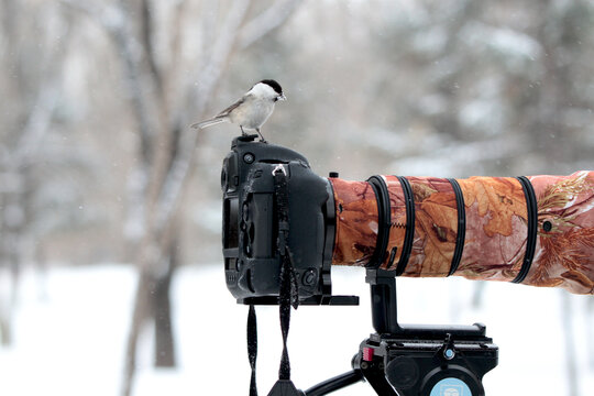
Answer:
[[[372,331],[364,273],[338,268],[333,283],[336,294],[360,295],[361,306],[300,307],[294,312],[293,380],[304,389],[349,371],[359,343]],[[564,329],[571,328],[578,394],[592,394],[592,297],[490,283],[481,308],[473,309],[477,285],[457,278],[398,279],[399,319],[484,322],[499,346],[499,365],[484,378],[491,396],[569,395]],[[24,273],[13,318],[14,343],[0,349],[0,395],[118,395],[134,286],[135,273],[127,265],[53,268],[45,283]],[[246,395],[248,309],[228,293],[222,265],[182,268],[173,293],[178,367],[153,369],[151,337],[144,334],[134,395]],[[571,315],[562,311],[564,298]],[[260,307],[257,312],[257,382],[265,395],[277,375],[282,341],[277,308]],[[360,383],[336,395],[374,393]]]

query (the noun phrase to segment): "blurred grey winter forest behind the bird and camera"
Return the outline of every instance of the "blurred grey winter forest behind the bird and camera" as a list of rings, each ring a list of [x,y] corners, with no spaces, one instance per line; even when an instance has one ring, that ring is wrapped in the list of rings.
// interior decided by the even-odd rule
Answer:
[[[122,395],[144,327],[175,365],[175,271],[222,263],[239,129],[188,125],[261,79],[288,98],[264,135],[322,176],[594,168],[592,1],[2,0],[0,18],[1,341],[25,268],[133,264]]]

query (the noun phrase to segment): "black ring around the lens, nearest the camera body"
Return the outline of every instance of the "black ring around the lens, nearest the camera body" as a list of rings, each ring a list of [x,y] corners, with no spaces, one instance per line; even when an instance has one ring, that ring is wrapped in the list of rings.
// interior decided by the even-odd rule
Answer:
[[[367,179],[367,183],[372,186],[377,200],[377,240],[375,243],[375,251],[373,252],[370,262],[365,264],[365,267],[378,268],[386,255],[389,229],[392,226],[389,195],[386,183],[382,176],[372,176]]]

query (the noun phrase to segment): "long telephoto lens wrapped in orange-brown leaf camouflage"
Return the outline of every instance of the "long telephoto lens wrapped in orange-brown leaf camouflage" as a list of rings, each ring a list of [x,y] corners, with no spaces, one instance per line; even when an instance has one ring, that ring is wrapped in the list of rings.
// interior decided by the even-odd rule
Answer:
[[[333,265],[594,292],[594,172],[329,180]]]

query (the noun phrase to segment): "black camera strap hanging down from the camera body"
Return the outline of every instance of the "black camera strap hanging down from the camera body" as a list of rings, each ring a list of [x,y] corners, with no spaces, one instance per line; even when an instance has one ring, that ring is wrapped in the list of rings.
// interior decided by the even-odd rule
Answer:
[[[290,308],[297,309],[299,306],[299,289],[297,275],[293,266],[293,257],[288,246],[288,182],[285,166],[278,164],[274,170],[274,193],[276,199],[276,215],[278,218],[278,239],[276,249],[280,257],[279,292],[278,292],[278,311],[280,319],[280,332],[283,334],[283,355],[278,369],[278,381],[274,384],[268,396],[299,396],[290,381],[290,362],[287,350],[287,338],[290,327]],[[252,380],[250,383],[250,396],[257,396],[255,384],[255,361],[257,355],[257,329],[255,308],[250,306],[248,316],[248,355],[252,367]]]

